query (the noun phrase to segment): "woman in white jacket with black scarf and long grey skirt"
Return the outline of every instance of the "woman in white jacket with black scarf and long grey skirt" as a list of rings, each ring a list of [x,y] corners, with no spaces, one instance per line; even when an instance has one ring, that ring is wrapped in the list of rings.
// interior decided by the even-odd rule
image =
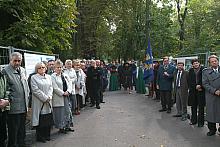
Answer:
[[[53,110],[55,127],[59,133],[66,134],[71,129],[72,117],[68,97],[72,92],[72,84],[69,77],[62,73],[63,63],[55,61],[55,72],[51,75],[53,83]]]

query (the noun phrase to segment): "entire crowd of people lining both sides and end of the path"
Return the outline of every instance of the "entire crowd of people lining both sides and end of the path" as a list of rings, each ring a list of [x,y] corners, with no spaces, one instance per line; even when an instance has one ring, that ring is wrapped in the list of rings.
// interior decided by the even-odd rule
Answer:
[[[216,123],[220,122],[220,69],[217,56],[208,60],[208,68],[194,59],[192,68],[185,71],[183,62],[174,66],[168,57],[163,58],[161,65],[155,62],[153,68],[134,61],[122,64],[112,61],[106,65],[102,60],[76,59],[63,63],[58,59],[37,63],[34,73],[27,78],[21,67],[22,55],[14,52],[0,72],[0,144],[26,146],[25,122],[30,108],[37,141],[50,141],[52,126],[59,133],[74,132],[74,115],[80,115],[88,104],[101,109],[107,87],[109,91],[123,88],[128,94],[134,90],[146,94],[161,102],[159,112],[171,113],[176,103],[177,113],[173,117],[181,117],[182,121],[189,117],[189,105],[190,125],[198,127],[204,126],[206,107],[207,135],[212,136],[217,131]]]

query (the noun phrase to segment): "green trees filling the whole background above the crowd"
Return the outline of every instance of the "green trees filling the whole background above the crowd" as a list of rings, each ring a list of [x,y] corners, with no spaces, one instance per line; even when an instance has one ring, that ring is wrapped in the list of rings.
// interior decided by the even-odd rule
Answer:
[[[149,34],[155,58],[219,51],[220,1],[189,0],[182,28],[177,1],[0,0],[0,45],[58,53],[63,59],[142,60]]]

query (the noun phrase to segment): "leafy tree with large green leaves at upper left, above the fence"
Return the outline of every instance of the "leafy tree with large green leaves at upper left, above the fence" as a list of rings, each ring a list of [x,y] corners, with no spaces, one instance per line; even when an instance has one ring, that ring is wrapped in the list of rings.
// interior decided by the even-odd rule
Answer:
[[[1,30],[1,45],[50,53],[71,49],[77,14],[74,0],[2,0],[0,4],[0,9],[18,19]]]

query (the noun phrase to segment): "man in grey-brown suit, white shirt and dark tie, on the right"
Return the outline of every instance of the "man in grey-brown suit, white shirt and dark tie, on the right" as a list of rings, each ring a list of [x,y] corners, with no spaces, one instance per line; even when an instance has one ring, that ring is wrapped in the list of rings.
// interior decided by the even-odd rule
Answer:
[[[177,63],[177,71],[174,73],[174,95],[176,99],[177,114],[173,117],[182,117],[187,120],[187,99],[188,99],[188,72],[184,70],[184,63]]]

